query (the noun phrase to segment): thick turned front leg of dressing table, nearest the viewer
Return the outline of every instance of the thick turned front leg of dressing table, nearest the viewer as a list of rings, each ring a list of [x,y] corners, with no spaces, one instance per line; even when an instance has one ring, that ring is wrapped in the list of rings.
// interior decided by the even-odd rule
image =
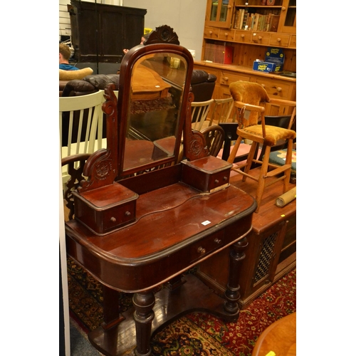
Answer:
[[[155,318],[155,313],[152,310],[155,305],[155,295],[152,291],[135,293],[132,301],[135,307],[134,319],[137,344],[135,355],[149,356],[151,354],[152,320]]]

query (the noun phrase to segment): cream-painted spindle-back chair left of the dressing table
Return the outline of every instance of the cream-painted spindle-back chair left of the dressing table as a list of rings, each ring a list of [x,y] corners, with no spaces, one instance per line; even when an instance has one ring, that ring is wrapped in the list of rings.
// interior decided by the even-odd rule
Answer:
[[[61,158],[90,154],[106,147],[103,139],[104,90],[96,93],[59,98]],[[69,179],[68,167],[62,167],[63,184]]]

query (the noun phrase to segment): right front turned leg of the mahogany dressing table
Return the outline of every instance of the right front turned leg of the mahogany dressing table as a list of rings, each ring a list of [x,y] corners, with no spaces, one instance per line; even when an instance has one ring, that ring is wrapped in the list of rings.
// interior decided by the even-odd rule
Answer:
[[[230,252],[230,271],[229,271],[229,283],[225,291],[226,302],[224,304],[224,309],[231,314],[236,314],[239,318],[239,304],[237,301],[240,298],[240,264],[241,261],[245,258],[245,248],[248,245],[246,237],[236,242],[232,245]]]

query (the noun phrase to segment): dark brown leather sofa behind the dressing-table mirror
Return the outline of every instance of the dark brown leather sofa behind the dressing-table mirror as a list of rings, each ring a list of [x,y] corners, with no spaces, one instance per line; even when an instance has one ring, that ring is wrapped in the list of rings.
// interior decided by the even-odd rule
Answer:
[[[78,70],[75,70],[78,72]],[[91,74],[83,79],[60,80],[59,96],[76,96],[94,93],[103,90],[108,84],[115,84],[115,89],[119,87],[119,74]],[[193,70],[192,92],[194,101],[210,100],[216,83],[214,74],[206,73],[205,70]]]

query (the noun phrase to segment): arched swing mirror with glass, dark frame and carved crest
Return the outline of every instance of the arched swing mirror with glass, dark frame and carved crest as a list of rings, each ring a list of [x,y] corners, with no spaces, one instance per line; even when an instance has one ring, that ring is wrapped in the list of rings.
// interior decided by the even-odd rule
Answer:
[[[168,26],[125,55],[117,104],[119,180],[177,162],[192,70],[191,54]]]

